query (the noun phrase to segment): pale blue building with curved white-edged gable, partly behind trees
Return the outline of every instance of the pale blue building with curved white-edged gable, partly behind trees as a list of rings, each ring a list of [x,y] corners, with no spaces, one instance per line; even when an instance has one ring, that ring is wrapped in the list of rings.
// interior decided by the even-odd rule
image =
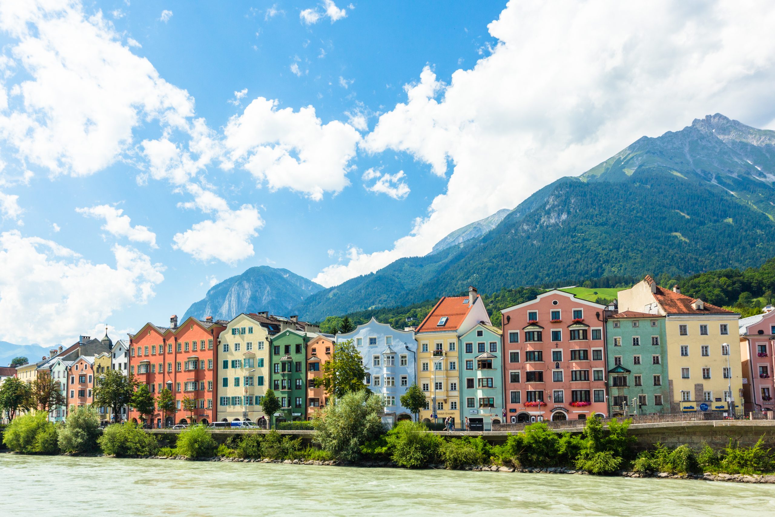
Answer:
[[[397,330],[374,317],[353,332],[336,335],[336,343],[353,339],[366,368],[364,382],[384,397],[384,422],[411,420],[412,412],[401,405],[401,395],[417,381],[417,341],[412,330]]]

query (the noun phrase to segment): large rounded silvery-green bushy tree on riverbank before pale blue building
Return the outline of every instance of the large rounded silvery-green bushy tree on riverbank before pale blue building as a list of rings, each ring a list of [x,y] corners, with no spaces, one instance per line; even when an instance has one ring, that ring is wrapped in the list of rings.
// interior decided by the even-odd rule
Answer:
[[[344,394],[336,404],[329,400],[325,408],[315,414],[315,442],[339,460],[360,458],[360,447],[384,433],[381,395],[369,395],[365,389]]]

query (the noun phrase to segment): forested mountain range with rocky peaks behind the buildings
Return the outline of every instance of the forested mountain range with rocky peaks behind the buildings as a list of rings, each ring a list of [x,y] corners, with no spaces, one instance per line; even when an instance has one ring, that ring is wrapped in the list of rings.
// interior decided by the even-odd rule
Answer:
[[[215,285],[188,315],[267,310],[321,321],[365,308],[611,275],[689,275],[775,256],[775,132],[724,115],[643,136],[577,177],[450,233],[425,257],[332,288],[261,266]]]

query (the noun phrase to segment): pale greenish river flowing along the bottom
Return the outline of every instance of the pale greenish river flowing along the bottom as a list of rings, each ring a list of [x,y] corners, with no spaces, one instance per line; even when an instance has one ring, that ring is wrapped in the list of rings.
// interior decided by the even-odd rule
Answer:
[[[0,515],[775,515],[775,487],[0,454]]]

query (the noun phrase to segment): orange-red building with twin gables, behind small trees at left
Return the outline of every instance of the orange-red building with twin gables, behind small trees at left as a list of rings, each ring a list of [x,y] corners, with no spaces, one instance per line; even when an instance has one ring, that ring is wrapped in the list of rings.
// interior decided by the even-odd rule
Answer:
[[[175,396],[172,414],[162,415],[157,405],[149,419],[153,427],[215,421],[217,343],[227,324],[222,320],[214,322],[211,317],[205,321],[191,317],[178,326],[177,316],[173,315],[168,327],[149,322],[140,332],[129,334],[129,373],[140,384],[147,384],[154,397],[164,388]],[[196,401],[193,412],[184,409],[184,398]],[[129,409],[128,418],[139,421],[140,415]]]

